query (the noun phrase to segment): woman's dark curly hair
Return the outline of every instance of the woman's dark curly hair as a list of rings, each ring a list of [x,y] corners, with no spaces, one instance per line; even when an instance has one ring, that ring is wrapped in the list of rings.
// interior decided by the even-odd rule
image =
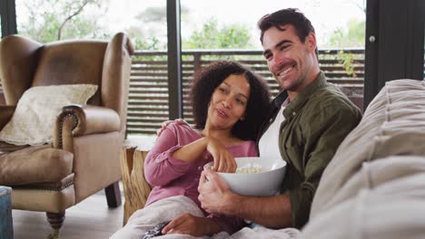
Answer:
[[[213,91],[232,74],[244,75],[250,84],[250,97],[246,105],[245,119],[236,122],[232,128],[232,134],[239,139],[255,140],[262,120],[267,117],[270,92],[260,75],[238,62],[213,62],[195,74],[191,91],[195,128],[204,129]]]

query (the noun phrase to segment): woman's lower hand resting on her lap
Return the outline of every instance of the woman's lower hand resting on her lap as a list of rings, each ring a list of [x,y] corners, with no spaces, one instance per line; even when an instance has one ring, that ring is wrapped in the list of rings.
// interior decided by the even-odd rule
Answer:
[[[220,232],[220,226],[210,218],[184,214],[176,217],[163,227],[163,234],[191,234],[193,236],[212,235]]]

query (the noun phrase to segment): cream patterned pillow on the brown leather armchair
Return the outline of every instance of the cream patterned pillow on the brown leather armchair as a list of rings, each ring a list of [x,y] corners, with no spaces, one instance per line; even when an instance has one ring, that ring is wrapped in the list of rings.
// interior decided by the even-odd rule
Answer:
[[[37,86],[25,91],[12,119],[0,131],[0,140],[15,145],[42,145],[53,141],[60,110],[85,104],[97,90],[93,84]]]

